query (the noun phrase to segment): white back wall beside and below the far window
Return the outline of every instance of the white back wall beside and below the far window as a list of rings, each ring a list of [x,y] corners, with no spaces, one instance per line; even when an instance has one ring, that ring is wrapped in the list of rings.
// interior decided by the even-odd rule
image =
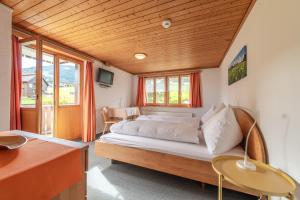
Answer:
[[[191,112],[195,116],[201,116],[211,105],[220,103],[220,69],[204,69],[201,72],[201,94],[203,107],[201,108],[176,108],[176,107],[144,107],[142,111],[168,111],[168,112]],[[138,78],[134,78],[134,93],[132,102],[136,102]]]

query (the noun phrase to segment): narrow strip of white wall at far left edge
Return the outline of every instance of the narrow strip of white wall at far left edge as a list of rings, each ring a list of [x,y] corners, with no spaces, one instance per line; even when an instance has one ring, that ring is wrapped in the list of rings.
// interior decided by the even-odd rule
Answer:
[[[9,130],[11,24],[11,10],[0,3],[0,131]]]

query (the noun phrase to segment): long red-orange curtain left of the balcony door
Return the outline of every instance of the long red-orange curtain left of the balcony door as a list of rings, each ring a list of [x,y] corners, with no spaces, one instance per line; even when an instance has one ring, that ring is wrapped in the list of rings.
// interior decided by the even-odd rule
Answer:
[[[10,86],[10,130],[21,130],[22,66],[19,39],[12,37],[12,69]]]

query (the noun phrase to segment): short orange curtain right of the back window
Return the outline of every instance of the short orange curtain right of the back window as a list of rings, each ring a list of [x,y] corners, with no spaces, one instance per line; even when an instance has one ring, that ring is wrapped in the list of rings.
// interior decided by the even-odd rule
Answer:
[[[202,100],[201,100],[201,88],[200,88],[200,73],[194,72],[191,73],[191,87],[190,87],[190,101],[191,106],[193,108],[201,107],[202,106]]]

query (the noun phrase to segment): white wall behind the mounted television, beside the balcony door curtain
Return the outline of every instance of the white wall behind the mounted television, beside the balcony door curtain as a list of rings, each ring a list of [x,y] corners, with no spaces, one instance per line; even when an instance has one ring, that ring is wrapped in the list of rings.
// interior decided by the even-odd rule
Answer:
[[[114,83],[112,87],[104,88],[95,82],[95,99],[96,99],[96,125],[97,133],[102,132],[103,119],[101,115],[101,108],[109,107],[127,107],[132,105],[132,79],[133,75],[115,67],[107,67],[100,62],[94,64],[95,79],[98,73],[98,68],[114,72]]]

